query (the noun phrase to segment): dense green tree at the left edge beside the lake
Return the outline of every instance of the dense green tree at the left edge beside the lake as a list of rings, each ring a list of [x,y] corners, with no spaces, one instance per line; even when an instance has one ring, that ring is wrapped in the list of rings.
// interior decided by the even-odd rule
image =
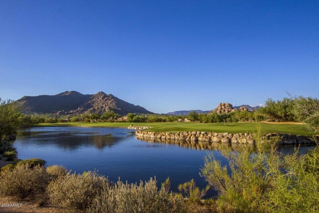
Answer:
[[[22,116],[20,105],[0,98],[0,146],[21,125]]]

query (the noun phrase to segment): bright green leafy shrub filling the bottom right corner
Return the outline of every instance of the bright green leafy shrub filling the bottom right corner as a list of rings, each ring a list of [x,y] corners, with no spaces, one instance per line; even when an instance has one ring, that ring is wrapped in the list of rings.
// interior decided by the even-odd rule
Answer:
[[[276,213],[319,212],[319,148],[305,155],[284,156],[285,172],[273,171],[273,188],[267,194],[265,209]]]

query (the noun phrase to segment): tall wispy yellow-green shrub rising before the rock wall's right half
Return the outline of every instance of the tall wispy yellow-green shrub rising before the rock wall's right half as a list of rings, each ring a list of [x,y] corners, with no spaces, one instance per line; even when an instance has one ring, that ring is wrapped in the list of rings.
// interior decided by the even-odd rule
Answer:
[[[270,150],[262,147],[265,151],[243,147],[234,152],[222,147],[221,154],[228,160],[228,166],[223,166],[212,154],[205,158],[202,175],[219,192],[216,206],[220,212],[265,212],[264,198],[274,181],[270,169],[279,170],[283,163],[274,146]]]

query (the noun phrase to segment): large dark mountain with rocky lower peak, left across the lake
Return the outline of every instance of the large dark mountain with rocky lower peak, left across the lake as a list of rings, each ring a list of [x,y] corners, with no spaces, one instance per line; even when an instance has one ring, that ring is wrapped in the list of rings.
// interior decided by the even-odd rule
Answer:
[[[24,96],[17,102],[23,104],[25,114],[103,114],[109,110],[120,115],[153,114],[141,106],[135,106],[103,91],[96,94],[65,91],[55,95]]]

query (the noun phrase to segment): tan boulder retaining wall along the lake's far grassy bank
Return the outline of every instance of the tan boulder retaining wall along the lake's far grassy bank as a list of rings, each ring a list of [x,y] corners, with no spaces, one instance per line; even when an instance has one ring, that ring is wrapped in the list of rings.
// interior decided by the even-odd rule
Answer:
[[[254,144],[254,135],[249,133],[214,133],[214,132],[150,132],[137,130],[135,135],[138,137],[154,138],[154,139],[169,139],[169,140],[185,140],[185,141],[200,141],[200,142],[218,142],[218,143],[238,143],[238,144]],[[278,137],[278,144],[312,144],[314,140],[307,136],[274,133],[266,134],[265,139]],[[317,140],[319,136],[316,136]]]

